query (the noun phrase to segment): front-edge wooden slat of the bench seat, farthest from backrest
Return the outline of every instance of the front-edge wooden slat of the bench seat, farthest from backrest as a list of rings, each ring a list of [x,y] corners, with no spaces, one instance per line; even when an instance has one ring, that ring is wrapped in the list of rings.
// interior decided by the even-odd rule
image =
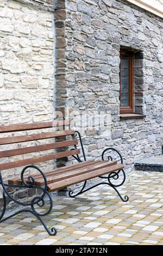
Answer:
[[[104,174],[116,172],[117,170],[121,170],[123,168],[124,168],[123,164],[114,164],[113,166],[106,167],[106,168],[103,168],[100,170],[94,170],[90,173],[86,173],[86,174],[75,176],[73,178],[68,178],[65,180],[57,181],[57,182],[54,182],[54,183],[48,185],[48,191],[53,192],[55,190],[59,190],[60,188],[78,184],[80,182],[90,180],[90,179],[96,178],[96,177],[104,175]]]

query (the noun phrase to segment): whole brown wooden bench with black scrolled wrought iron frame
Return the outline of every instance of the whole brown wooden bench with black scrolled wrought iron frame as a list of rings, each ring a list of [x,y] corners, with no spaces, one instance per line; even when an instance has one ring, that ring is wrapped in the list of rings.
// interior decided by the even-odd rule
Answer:
[[[66,126],[68,126],[68,129],[66,129]],[[62,129],[60,130],[61,127]],[[52,131],[46,131],[45,129],[52,129]],[[19,134],[15,135],[17,132],[19,132]],[[23,132],[23,135],[20,135],[20,132]],[[122,186],[126,180],[121,154],[118,153],[116,149],[108,148],[103,151],[102,160],[86,160],[80,133],[78,131],[70,130],[69,121],[0,126],[0,133],[3,133],[3,136],[1,135],[0,137],[1,146],[9,145],[9,147],[11,147],[11,145],[16,145],[16,148],[12,149],[6,149],[7,146],[2,146],[5,147],[5,150],[0,150],[0,157],[2,159],[2,163],[0,163],[0,185],[3,189],[4,200],[4,206],[0,215],[0,223],[22,212],[30,212],[40,220],[49,235],[57,234],[57,230],[55,228],[50,230],[41,218],[42,216],[49,214],[53,208],[53,201],[49,192],[57,191],[61,188],[78,184],[79,182],[84,182],[82,188],[80,188],[80,191],[77,193],[69,191],[70,197],[76,197],[93,187],[104,184],[114,188],[123,202],[128,201],[128,196],[125,196],[123,199],[117,190],[117,187]],[[11,136],[6,136],[4,135],[5,133],[11,133]],[[82,150],[77,148],[78,138]],[[27,145],[28,143],[30,143],[30,145]],[[49,153],[49,150],[53,151]],[[116,154],[119,157],[120,162],[118,162],[116,159],[114,160],[111,155],[104,160],[104,155],[108,154],[110,150],[112,151],[113,155]],[[81,154],[80,151],[82,152],[83,159],[81,159],[79,156]],[[35,156],[36,153],[37,156]],[[33,156],[29,157],[27,154],[30,154],[30,156],[33,154]],[[20,156],[22,156],[22,159],[15,161],[12,159],[12,157],[15,159],[15,156],[18,156],[19,159]],[[78,163],[54,169],[51,167],[45,172],[34,165],[50,160],[63,159],[69,156],[76,159]],[[8,170],[9,175],[11,168],[18,167],[24,167],[23,169],[21,168],[20,176],[14,179],[8,179],[8,182],[3,180],[2,172],[7,172]],[[30,175],[28,173],[29,170],[35,170],[36,173]],[[116,184],[114,184],[112,181],[120,178],[120,172],[122,173],[120,183],[118,184],[116,182]],[[104,176],[106,174],[107,176]],[[98,180],[102,179],[102,182],[98,182],[98,184],[86,188],[87,180],[97,177],[99,177]],[[27,188],[28,190],[37,189],[40,190],[40,193],[39,196],[34,196],[31,202],[21,202],[21,200],[12,196],[12,194],[9,192],[9,188],[17,188],[20,190],[24,188]],[[7,207],[6,197],[19,205],[27,206],[27,208],[23,208],[22,210],[3,218]],[[35,206],[44,206],[45,197],[48,199],[49,209],[42,214],[37,211]]]

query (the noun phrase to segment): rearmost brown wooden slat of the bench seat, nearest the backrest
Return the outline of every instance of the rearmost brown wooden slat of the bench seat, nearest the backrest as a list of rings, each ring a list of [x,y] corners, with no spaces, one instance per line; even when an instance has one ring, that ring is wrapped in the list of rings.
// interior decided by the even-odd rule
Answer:
[[[74,163],[72,166],[63,166],[63,167],[60,167],[60,168],[57,168],[57,169],[54,169],[54,170],[51,170],[50,172],[47,171],[47,172],[44,172],[46,177],[49,176],[49,175],[52,175],[52,174],[57,174],[57,173],[66,173],[66,172],[69,172],[71,169],[77,169],[77,168],[83,168],[85,166],[87,166],[88,164],[95,164],[95,162],[99,162],[99,161],[95,161],[95,160],[87,160],[85,162],[81,162],[81,163]],[[29,175],[28,175],[29,176]],[[24,180],[28,181],[28,176],[25,176],[24,177]],[[41,179],[42,178],[42,175],[41,174],[34,174],[32,175],[33,178],[35,180],[38,180],[38,179]],[[9,182],[9,185],[22,185],[22,181],[20,179],[20,176],[15,178],[15,179],[10,179],[8,180]]]

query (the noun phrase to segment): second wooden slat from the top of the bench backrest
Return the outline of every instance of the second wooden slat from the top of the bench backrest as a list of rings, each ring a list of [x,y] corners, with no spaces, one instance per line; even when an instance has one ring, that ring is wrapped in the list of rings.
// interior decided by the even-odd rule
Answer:
[[[73,130],[55,131],[55,132],[42,132],[32,135],[14,136],[0,138],[0,145],[13,144],[18,142],[36,141],[39,139],[56,138],[67,135],[74,135]]]

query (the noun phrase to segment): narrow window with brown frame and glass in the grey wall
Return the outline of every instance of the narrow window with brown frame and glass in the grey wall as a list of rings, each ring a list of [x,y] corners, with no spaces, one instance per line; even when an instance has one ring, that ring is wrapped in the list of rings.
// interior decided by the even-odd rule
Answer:
[[[120,58],[120,113],[134,113],[134,53],[121,51]]]

